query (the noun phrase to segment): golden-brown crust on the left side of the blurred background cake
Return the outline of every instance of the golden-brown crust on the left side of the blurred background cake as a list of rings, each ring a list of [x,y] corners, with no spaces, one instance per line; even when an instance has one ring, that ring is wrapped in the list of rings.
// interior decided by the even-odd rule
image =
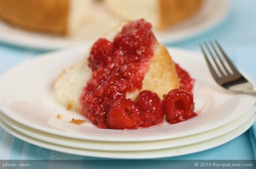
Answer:
[[[0,18],[37,32],[67,34],[69,0],[0,0]]]

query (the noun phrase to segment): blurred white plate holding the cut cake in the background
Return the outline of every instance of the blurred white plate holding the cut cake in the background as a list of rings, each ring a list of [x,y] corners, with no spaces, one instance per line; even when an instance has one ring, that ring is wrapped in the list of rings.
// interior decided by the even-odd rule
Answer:
[[[216,9],[218,11],[216,12]],[[37,49],[59,49],[74,46],[80,43],[91,44],[99,35],[109,30],[119,20],[103,13],[104,7],[96,8],[90,24],[82,26],[73,38],[55,34],[40,34],[25,31],[0,21],[0,41],[9,44],[32,47]],[[193,18],[166,31],[155,31],[155,36],[162,43],[171,43],[194,37],[220,23],[229,11],[228,0],[205,0],[202,10]],[[104,25],[104,26],[102,26]]]

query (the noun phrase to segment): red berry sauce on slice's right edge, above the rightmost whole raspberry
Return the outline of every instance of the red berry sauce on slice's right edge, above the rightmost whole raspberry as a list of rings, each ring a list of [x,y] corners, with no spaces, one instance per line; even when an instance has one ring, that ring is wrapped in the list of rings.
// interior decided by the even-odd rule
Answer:
[[[195,80],[189,76],[189,73],[182,69],[178,64],[175,64],[176,72],[180,78],[180,88],[182,90],[186,90],[187,92],[191,92],[193,89],[193,85]]]

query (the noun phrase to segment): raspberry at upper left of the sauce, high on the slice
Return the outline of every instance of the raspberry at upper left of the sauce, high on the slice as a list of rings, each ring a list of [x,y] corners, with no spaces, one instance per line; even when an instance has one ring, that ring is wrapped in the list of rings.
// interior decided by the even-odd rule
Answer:
[[[89,67],[93,70],[98,68],[99,64],[105,64],[112,61],[113,44],[107,39],[98,39],[90,52],[88,58]]]

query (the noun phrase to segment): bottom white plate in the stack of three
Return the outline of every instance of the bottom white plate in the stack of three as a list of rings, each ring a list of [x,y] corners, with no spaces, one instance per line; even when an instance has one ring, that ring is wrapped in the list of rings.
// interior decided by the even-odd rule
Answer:
[[[47,148],[50,150],[56,150],[68,154],[81,155],[81,156],[94,156],[94,157],[104,157],[104,158],[119,158],[119,159],[147,159],[147,158],[162,158],[162,157],[171,157],[171,156],[181,156],[190,153],[199,152],[202,150],[208,150],[210,148],[224,144],[238,136],[243,132],[247,131],[251,125],[253,125],[256,119],[256,114],[253,115],[251,119],[245,122],[244,125],[240,126],[236,130],[233,130],[227,134],[224,134],[220,137],[213,138],[204,142],[185,145],[181,147],[163,149],[163,150],[141,150],[137,151],[100,151],[100,150],[87,150],[87,149],[77,149],[67,146],[61,146],[45,141],[41,141],[32,137],[29,137],[25,134],[22,134],[19,131],[16,131],[12,127],[6,125],[2,120],[0,120],[0,126],[13,136],[20,138],[23,141],[28,143]]]

